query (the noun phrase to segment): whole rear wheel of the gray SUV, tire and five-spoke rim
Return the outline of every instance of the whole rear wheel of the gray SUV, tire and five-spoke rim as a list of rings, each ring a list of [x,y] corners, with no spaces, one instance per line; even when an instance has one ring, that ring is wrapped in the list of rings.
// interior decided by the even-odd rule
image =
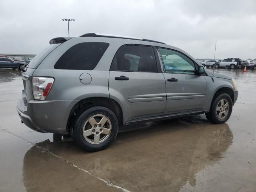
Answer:
[[[118,133],[118,119],[106,107],[92,107],[84,111],[76,120],[73,138],[86,151],[105,149]]]

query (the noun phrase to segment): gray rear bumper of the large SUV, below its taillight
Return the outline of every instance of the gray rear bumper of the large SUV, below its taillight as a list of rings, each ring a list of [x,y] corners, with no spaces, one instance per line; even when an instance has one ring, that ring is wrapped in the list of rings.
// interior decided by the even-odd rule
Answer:
[[[78,100],[39,101],[31,100],[24,107],[20,100],[17,112],[26,126],[37,132],[67,134],[67,122],[72,107]],[[23,103],[23,104],[22,104]]]

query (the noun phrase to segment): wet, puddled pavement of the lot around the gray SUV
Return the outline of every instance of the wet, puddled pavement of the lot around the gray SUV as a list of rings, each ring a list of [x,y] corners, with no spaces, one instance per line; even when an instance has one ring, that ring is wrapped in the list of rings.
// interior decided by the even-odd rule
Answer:
[[[256,71],[219,69],[239,95],[220,125],[204,115],[120,128],[106,150],[21,124],[20,71],[0,70],[0,192],[255,192]]]

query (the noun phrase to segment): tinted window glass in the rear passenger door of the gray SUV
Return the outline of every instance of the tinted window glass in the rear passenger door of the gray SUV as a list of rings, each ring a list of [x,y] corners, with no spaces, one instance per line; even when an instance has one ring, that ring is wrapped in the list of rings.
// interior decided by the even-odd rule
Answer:
[[[157,72],[153,47],[140,45],[121,47],[114,56],[110,70]]]

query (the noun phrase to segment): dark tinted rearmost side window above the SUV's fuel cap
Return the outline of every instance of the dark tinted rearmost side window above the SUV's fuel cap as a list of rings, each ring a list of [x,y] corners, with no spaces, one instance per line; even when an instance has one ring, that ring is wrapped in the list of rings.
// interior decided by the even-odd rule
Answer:
[[[109,44],[102,42],[78,43],[68,49],[54,65],[55,69],[93,70]]]

